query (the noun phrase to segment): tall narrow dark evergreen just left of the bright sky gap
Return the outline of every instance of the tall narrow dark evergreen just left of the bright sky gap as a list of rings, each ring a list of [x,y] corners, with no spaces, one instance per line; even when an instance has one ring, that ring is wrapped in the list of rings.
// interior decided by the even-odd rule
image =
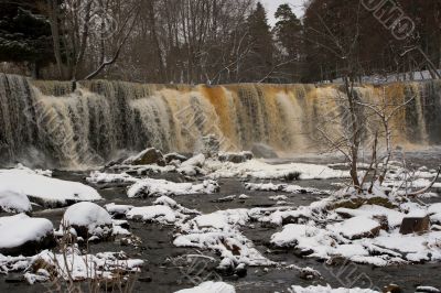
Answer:
[[[248,35],[250,54],[247,58],[247,82],[269,82],[267,75],[271,73],[273,61],[273,40],[263,6],[258,2],[256,9],[248,17]]]

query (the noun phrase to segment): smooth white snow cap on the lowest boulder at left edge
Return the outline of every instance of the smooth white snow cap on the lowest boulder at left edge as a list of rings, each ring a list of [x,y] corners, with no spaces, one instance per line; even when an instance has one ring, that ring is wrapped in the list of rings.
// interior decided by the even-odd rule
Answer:
[[[28,241],[39,241],[53,232],[49,219],[31,218],[24,214],[0,218],[0,249],[20,247]]]

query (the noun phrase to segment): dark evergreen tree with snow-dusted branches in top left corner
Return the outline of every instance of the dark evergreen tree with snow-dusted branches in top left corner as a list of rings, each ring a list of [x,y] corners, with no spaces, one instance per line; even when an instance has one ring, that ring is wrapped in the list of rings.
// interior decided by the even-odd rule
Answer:
[[[33,75],[53,58],[51,25],[42,1],[0,2],[0,61],[28,62]]]

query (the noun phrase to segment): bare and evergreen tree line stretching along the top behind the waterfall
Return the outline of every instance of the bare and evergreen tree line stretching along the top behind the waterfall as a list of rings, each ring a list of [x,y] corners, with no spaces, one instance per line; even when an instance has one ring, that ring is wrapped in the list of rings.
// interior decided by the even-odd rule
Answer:
[[[373,13],[367,3],[383,2]],[[397,39],[405,13],[415,32]],[[313,83],[441,67],[439,0],[1,0],[2,72],[140,83]]]

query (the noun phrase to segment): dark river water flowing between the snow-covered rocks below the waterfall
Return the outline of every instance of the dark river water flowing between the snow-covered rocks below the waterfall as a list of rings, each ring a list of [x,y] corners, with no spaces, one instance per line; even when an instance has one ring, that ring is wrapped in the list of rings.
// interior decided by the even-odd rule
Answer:
[[[434,167],[441,162],[440,154],[420,154],[415,155],[412,162]],[[84,172],[55,172],[54,177],[72,180],[85,183],[87,173]],[[163,176],[162,176],[163,177]],[[168,180],[178,180],[174,175],[166,175]],[[312,186],[316,188],[332,189],[331,185],[335,181],[302,181],[295,184],[302,186]],[[280,192],[248,192],[244,188],[243,182],[238,180],[222,180],[220,193],[215,195],[186,195],[178,196],[174,199],[189,208],[197,209],[202,213],[213,213],[219,209],[228,208],[252,208],[269,207],[276,202],[270,200],[269,196],[280,195]],[[106,199],[100,205],[107,203],[130,204],[135,206],[151,205],[154,198],[139,199],[127,198],[123,187],[98,189]],[[214,199],[227,195],[247,194],[250,196],[247,200],[236,199],[227,203],[213,203]],[[316,195],[288,195],[288,204],[293,206],[309,205],[320,199]],[[432,198],[431,202],[440,202],[439,198]],[[51,219],[55,226],[60,224],[63,209],[34,211],[34,217],[45,217]],[[136,281],[135,292],[174,292],[184,287],[193,286],[193,283],[185,275],[189,268],[180,268],[171,259],[190,253],[198,253],[193,249],[176,248],[172,245],[174,229],[173,226],[160,226],[151,224],[141,224],[131,221],[130,231],[142,239],[139,248],[132,246],[121,247],[119,242],[104,242],[92,245],[90,252],[98,251],[126,251],[131,258],[146,260],[142,273]],[[290,250],[273,250],[269,245],[272,234],[281,228],[268,228],[260,225],[249,225],[241,228],[241,231],[251,241],[256,248],[268,259],[281,262],[282,265],[271,268],[248,268],[247,275],[241,279],[232,276],[224,278],[225,281],[235,285],[237,292],[288,292],[291,285],[313,285],[331,284],[333,287],[379,287],[395,283],[404,292],[415,292],[418,285],[430,285],[441,289],[440,269],[441,264],[426,263],[416,265],[397,265],[388,268],[375,268],[373,265],[361,265],[353,263],[343,263],[340,267],[327,267],[315,259],[302,259]],[[215,257],[211,251],[203,251],[207,256]],[[299,278],[295,270],[287,269],[286,265],[295,264],[299,267],[313,268],[322,274],[322,280],[304,281]],[[211,270],[198,274],[205,279],[212,275]],[[28,285],[24,282],[15,283],[21,274],[10,274],[0,276],[0,292],[47,292],[42,284]],[[150,282],[147,279],[151,278]],[[192,279],[193,280],[193,279]],[[11,283],[13,282],[13,283]]]

